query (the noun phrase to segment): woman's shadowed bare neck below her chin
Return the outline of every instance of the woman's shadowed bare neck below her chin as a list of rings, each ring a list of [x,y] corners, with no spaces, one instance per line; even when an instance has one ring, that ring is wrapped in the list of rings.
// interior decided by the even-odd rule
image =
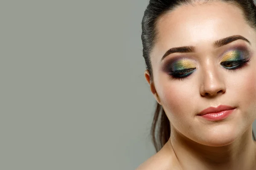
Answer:
[[[183,170],[254,170],[256,144],[252,126],[231,144],[211,147],[194,142],[172,129],[169,140]]]

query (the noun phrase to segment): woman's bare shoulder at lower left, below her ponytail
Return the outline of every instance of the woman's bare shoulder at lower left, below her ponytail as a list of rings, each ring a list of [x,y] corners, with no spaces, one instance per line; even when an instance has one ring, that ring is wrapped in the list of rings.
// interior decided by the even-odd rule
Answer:
[[[181,170],[176,156],[167,144],[155,155],[151,156],[136,170]]]

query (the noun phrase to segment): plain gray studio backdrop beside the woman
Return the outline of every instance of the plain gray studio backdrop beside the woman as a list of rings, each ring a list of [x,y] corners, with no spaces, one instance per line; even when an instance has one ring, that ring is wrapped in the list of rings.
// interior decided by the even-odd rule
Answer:
[[[154,154],[147,3],[1,1],[1,170],[132,170]]]

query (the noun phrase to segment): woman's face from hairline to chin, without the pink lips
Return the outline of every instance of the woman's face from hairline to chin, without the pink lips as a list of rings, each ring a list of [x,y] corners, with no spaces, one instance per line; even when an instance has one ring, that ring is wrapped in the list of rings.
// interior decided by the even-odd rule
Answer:
[[[241,9],[224,2],[180,6],[158,20],[157,30],[154,88],[172,130],[211,146],[242,136],[256,118],[256,32]],[[163,57],[184,46],[190,48]],[[219,105],[236,109],[221,121],[197,115]]]

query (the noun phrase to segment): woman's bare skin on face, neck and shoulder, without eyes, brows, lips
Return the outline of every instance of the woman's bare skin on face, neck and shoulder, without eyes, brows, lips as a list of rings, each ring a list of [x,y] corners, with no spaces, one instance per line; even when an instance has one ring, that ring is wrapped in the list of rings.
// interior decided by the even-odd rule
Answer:
[[[186,11],[186,12],[184,12]],[[137,170],[254,170],[256,144],[252,123],[256,119],[256,31],[244,20],[240,8],[224,2],[179,6],[157,21],[158,37],[151,53],[154,79],[145,78],[171,124],[164,147]],[[216,40],[241,35],[216,48]],[[193,53],[170,54],[170,48],[195,46]],[[230,71],[221,65],[230,48],[243,46],[250,62]],[[174,79],[164,65],[185,57],[196,71]],[[235,111],[219,122],[197,114],[209,107],[229,105]]]

